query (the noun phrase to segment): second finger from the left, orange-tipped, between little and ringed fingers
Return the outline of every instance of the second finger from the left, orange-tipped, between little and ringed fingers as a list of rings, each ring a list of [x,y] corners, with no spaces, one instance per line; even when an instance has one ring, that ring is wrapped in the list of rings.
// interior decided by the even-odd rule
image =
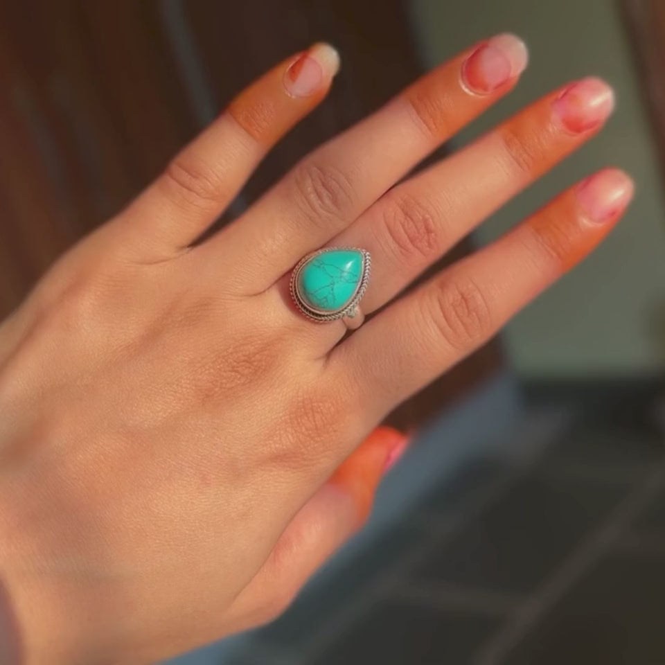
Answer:
[[[526,47],[499,35],[427,74],[305,157],[209,243],[246,247],[247,294],[266,290],[353,222],[421,159],[513,88]]]

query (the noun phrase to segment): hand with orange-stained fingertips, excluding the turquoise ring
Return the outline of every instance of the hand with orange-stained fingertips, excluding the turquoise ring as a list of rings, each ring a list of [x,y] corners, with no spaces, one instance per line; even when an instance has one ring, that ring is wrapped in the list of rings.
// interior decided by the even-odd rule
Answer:
[[[150,662],[273,617],[360,526],[403,447],[380,431],[359,448],[371,429],[610,231],[632,196],[617,170],[343,341],[341,321],[290,303],[294,264],[348,245],[371,252],[362,308],[377,310],[601,128],[612,91],[585,79],[393,186],[525,65],[514,37],[469,48],[193,247],[325,96],[337,58],[314,46],[233,100],[3,323],[0,595],[21,662]]]

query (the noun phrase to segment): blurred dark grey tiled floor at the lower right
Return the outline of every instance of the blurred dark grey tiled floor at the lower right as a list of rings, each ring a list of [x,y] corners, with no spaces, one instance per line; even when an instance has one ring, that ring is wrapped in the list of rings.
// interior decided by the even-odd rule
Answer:
[[[502,644],[515,612],[535,607],[533,625],[484,664],[664,664],[665,447],[640,408],[598,400],[531,465],[471,461],[420,502],[420,520],[258,632],[252,662],[276,665],[265,657],[273,644],[291,655],[280,664],[470,665]],[[656,473],[655,499],[620,522]],[[608,524],[616,542],[568,574],[580,544]],[[542,596],[552,580],[557,592]]]

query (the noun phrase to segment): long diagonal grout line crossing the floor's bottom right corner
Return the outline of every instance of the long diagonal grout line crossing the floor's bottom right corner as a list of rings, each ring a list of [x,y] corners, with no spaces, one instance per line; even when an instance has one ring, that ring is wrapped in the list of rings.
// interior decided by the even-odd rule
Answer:
[[[498,632],[481,646],[473,665],[499,665],[553,605],[572,587],[612,544],[632,520],[665,487],[665,462],[659,463],[643,484],[635,488],[597,529],[585,538],[544,584],[517,609]]]

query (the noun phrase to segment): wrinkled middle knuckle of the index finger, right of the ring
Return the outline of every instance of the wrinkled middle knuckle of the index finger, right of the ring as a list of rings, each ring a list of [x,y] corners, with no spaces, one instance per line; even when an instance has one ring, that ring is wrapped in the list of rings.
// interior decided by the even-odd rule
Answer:
[[[457,351],[469,351],[490,335],[490,307],[472,279],[442,283],[434,290],[430,307],[436,333]]]

